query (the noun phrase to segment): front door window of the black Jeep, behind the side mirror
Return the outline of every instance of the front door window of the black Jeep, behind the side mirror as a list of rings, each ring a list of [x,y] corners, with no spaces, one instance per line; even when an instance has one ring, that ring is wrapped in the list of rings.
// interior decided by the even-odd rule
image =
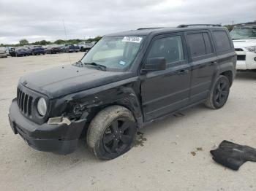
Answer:
[[[148,58],[165,58],[167,63],[184,60],[181,36],[169,36],[153,42]]]

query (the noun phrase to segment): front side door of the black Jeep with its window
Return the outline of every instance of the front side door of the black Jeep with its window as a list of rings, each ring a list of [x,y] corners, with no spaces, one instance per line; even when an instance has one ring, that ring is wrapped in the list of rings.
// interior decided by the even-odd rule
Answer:
[[[184,34],[156,36],[147,58],[165,58],[167,69],[140,76],[145,121],[174,112],[189,102],[190,66]]]

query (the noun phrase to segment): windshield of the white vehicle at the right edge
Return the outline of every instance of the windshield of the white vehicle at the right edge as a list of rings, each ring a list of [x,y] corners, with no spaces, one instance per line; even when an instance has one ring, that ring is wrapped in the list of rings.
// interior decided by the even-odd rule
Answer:
[[[256,38],[256,28],[234,28],[230,35],[232,39],[253,39]]]

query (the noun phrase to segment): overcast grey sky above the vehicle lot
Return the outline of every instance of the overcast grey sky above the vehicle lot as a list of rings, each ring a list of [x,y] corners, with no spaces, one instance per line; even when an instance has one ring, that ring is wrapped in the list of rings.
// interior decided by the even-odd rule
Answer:
[[[85,39],[141,27],[256,20],[255,0],[0,0],[0,44]],[[63,23],[64,20],[64,23]]]

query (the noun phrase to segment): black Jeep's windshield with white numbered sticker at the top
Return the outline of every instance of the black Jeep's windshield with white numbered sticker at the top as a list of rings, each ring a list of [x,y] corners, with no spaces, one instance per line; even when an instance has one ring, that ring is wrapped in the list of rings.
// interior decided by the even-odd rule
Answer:
[[[142,42],[142,36],[103,37],[81,62],[97,63],[107,70],[124,71],[134,61]]]

